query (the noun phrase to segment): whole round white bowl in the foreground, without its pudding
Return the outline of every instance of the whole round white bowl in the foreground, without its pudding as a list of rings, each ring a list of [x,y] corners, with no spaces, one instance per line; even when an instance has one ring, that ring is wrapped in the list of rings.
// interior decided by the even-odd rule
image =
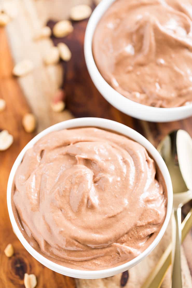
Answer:
[[[132,259],[131,261],[123,265],[120,265],[114,268],[109,268],[105,270],[96,270],[96,271],[85,271],[85,270],[76,270],[76,269],[67,268],[65,266],[58,265],[48,260],[43,255],[39,254],[35,249],[33,249],[33,247],[27,242],[27,240],[22,235],[17,225],[16,219],[14,217],[12,204],[11,204],[12,184],[14,180],[14,175],[16,173],[18,166],[20,165],[22,161],[22,158],[25,152],[29,148],[33,147],[33,145],[41,137],[45,136],[46,134],[52,131],[61,130],[64,128],[85,127],[85,126],[93,126],[93,127],[98,127],[98,128],[110,129],[110,130],[113,130],[114,132],[124,134],[125,136],[128,136],[131,139],[143,145],[147,149],[147,151],[149,151],[150,155],[152,156],[152,158],[155,160],[155,162],[159,166],[159,169],[161,170],[161,173],[165,179],[165,183],[166,183],[166,187],[168,191],[168,205],[167,205],[166,218],[165,218],[165,221],[163,223],[161,230],[159,231],[157,237],[154,239],[151,245],[144,252],[142,252],[139,256],[137,256],[136,258]],[[41,133],[39,133],[20,152],[19,156],[17,157],[11,169],[9,180],[8,180],[8,185],[7,185],[7,206],[8,206],[9,217],[10,217],[14,232],[16,233],[18,239],[20,240],[22,245],[25,247],[25,249],[37,261],[39,261],[44,266],[50,268],[51,270],[58,272],[60,274],[66,275],[66,276],[71,276],[75,278],[83,278],[83,279],[96,279],[96,278],[104,278],[104,277],[113,276],[117,273],[128,270],[132,266],[138,264],[143,258],[145,258],[159,243],[159,241],[161,240],[161,237],[163,236],[167,228],[170,215],[171,215],[171,211],[172,211],[172,202],[173,202],[173,191],[172,191],[172,183],[171,183],[170,175],[169,175],[169,172],[168,172],[168,169],[164,160],[161,158],[160,154],[155,149],[155,147],[153,147],[153,145],[147,139],[145,139],[145,137],[143,137],[141,134],[134,131],[133,129],[123,124],[120,124],[118,122],[107,120],[107,119],[102,119],[102,118],[77,118],[77,119],[67,120],[67,121],[55,124],[45,129]]]

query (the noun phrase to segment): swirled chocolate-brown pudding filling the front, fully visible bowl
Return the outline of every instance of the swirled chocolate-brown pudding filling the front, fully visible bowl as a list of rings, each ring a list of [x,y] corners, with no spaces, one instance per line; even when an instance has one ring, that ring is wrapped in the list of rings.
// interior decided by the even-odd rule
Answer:
[[[110,268],[138,256],[157,236],[166,205],[164,181],[146,149],[98,128],[41,138],[24,155],[13,187],[28,242],[76,269]]]

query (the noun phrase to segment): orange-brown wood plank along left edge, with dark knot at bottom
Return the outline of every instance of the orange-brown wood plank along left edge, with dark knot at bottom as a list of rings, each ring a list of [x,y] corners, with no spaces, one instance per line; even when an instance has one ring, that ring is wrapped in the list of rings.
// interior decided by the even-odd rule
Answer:
[[[12,231],[9,221],[6,188],[7,180],[18,153],[31,140],[34,134],[27,134],[21,125],[22,116],[29,112],[29,106],[16,78],[12,77],[13,60],[10,54],[4,29],[0,29],[0,98],[7,107],[0,113],[0,129],[6,129],[14,136],[14,143],[7,151],[0,151],[0,287],[24,287],[24,273],[35,274],[37,287],[75,287],[73,278],[57,274],[37,262],[24,249]],[[15,254],[7,258],[4,249],[12,243]]]

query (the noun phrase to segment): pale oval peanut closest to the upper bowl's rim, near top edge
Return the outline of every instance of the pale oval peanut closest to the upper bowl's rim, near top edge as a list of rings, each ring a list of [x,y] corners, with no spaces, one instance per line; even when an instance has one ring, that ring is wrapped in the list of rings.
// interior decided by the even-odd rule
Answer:
[[[71,8],[70,17],[72,20],[80,21],[88,18],[92,13],[92,9],[88,5],[77,5]]]

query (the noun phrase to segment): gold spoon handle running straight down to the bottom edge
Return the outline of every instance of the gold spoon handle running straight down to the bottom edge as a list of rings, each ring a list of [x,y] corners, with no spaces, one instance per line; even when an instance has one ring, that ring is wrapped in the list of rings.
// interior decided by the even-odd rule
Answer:
[[[174,210],[176,221],[175,257],[173,264],[172,288],[182,288],[181,280],[181,208]]]

